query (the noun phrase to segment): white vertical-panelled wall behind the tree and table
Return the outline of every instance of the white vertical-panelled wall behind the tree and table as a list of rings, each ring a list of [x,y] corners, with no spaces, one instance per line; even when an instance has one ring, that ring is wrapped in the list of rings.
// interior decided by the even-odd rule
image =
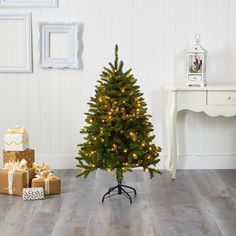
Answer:
[[[184,81],[185,52],[196,32],[209,51],[208,82],[236,83],[235,11],[234,0],[60,0],[59,8],[0,9],[32,12],[34,55],[34,73],[0,74],[0,139],[9,126],[22,124],[30,132],[39,162],[74,168],[86,102],[118,43],[120,57],[133,68],[145,94],[164,159],[163,87]],[[38,21],[82,24],[82,69],[38,67]],[[235,118],[182,112],[178,138],[179,167],[236,167]]]

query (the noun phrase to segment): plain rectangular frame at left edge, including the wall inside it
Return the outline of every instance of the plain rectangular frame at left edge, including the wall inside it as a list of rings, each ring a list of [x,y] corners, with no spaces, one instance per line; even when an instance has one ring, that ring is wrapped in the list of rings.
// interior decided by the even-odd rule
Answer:
[[[31,14],[0,14],[0,72],[32,72]]]

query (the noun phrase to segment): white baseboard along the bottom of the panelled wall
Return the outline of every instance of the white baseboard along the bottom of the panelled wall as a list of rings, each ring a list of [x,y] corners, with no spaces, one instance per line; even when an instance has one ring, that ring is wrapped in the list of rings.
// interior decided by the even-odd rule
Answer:
[[[166,169],[166,155],[160,155],[159,169]],[[36,162],[46,162],[52,169],[76,169],[72,155],[38,155]],[[178,169],[236,169],[236,154],[232,155],[180,155]]]

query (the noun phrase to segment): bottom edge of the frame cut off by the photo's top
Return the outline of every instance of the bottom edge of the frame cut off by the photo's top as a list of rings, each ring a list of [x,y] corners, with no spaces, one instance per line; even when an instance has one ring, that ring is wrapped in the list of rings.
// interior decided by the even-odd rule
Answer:
[[[58,7],[59,0],[0,0],[0,7]]]

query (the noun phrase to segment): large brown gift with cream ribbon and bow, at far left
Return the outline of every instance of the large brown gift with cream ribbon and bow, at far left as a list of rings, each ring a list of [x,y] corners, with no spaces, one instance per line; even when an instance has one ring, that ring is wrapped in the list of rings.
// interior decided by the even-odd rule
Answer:
[[[30,186],[34,175],[34,169],[27,167],[26,160],[6,163],[0,169],[0,193],[22,196],[23,188]]]

